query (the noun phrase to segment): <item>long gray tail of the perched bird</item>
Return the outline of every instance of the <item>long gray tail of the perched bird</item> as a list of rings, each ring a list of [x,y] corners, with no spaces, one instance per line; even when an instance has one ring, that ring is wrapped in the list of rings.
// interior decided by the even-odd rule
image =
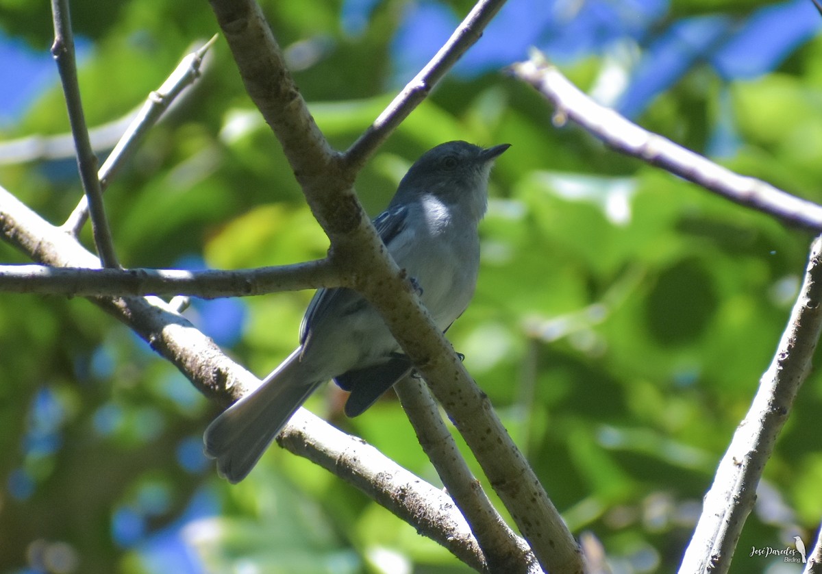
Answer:
[[[302,380],[301,348],[205,429],[205,454],[217,459],[220,476],[238,483],[251,472],[294,411],[321,382]]]

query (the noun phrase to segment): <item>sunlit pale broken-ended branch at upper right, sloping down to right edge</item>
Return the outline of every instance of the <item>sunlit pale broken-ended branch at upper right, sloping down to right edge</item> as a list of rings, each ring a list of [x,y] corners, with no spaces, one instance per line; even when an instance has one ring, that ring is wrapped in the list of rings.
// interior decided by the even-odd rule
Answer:
[[[788,225],[822,232],[822,206],[764,183],[734,174],[703,156],[648,132],[584,95],[539,56],[515,64],[513,73],[556,106],[557,123],[570,118],[614,150],[658,165],[731,201],[773,215]]]

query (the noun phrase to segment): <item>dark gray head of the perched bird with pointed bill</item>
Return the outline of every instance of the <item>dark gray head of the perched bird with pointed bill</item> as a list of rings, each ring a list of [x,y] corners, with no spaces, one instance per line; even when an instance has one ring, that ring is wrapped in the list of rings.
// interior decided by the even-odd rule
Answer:
[[[488,174],[496,157],[510,144],[484,149],[467,141],[446,141],[427,150],[399,182],[392,205],[436,196],[448,205],[469,208],[476,220],[485,214]]]

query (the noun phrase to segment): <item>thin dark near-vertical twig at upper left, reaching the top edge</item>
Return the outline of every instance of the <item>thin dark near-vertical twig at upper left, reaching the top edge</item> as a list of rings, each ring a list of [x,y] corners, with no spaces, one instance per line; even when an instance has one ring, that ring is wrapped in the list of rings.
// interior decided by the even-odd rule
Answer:
[[[103,206],[103,192],[97,178],[97,156],[91,149],[89,130],[85,125],[80,85],[77,82],[77,62],[74,58],[74,38],[71,16],[68,12],[68,0],[52,0],[52,15],[54,20],[52,55],[57,62],[62,91],[66,98],[68,121],[72,126],[74,146],[77,150],[77,168],[80,171],[80,181],[91,210],[91,225],[97,253],[104,267],[118,267],[120,264],[114,252],[109,220],[106,218]]]

